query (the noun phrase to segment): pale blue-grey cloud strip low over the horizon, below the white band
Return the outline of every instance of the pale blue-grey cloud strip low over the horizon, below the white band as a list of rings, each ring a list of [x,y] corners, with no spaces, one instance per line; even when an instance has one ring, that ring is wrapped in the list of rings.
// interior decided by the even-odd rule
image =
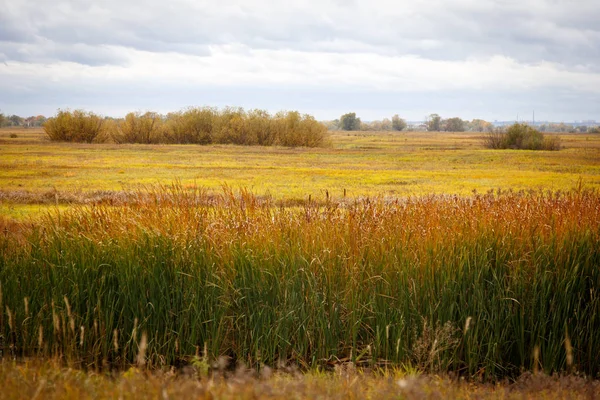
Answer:
[[[0,86],[2,82],[0,81]],[[11,90],[10,104],[0,98],[7,113],[52,115],[57,108],[84,108],[106,115],[123,116],[132,110],[168,112],[186,106],[226,105],[245,108],[299,110],[319,119],[334,119],[357,112],[365,120],[393,114],[420,120],[430,113],[464,119],[509,120],[527,118],[535,110],[537,120],[573,121],[599,119],[598,94],[568,89],[536,91],[441,91],[436,93],[327,89],[314,87],[222,87],[216,85],[175,85],[165,88],[153,83],[128,86],[64,86],[37,82],[35,91]],[[574,101],[577,100],[577,101]],[[4,103],[4,104],[2,104]]]

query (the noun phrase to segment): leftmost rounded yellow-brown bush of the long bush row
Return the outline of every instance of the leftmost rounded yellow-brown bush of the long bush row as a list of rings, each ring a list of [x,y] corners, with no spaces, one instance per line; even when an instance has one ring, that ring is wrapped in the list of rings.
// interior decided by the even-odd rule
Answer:
[[[82,110],[59,110],[55,117],[44,123],[44,132],[57,142],[104,141],[104,119]]]

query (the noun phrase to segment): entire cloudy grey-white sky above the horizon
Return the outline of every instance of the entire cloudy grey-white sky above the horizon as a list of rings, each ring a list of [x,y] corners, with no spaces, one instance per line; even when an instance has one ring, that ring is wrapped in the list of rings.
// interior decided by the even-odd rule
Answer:
[[[0,112],[600,120],[598,0],[0,0]]]

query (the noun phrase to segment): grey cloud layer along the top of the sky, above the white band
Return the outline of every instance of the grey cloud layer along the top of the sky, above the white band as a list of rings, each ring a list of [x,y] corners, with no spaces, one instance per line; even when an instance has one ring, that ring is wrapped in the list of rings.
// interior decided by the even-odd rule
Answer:
[[[600,3],[429,1],[279,3],[149,1],[24,2],[10,17],[28,31],[64,44],[125,46],[153,52],[208,55],[208,46],[349,52],[337,43],[381,54],[457,60],[501,54],[522,62],[600,64]],[[406,8],[406,10],[405,10]],[[43,11],[42,11],[43,10]],[[1,28],[0,28],[1,29]],[[428,43],[439,42],[438,46]]]

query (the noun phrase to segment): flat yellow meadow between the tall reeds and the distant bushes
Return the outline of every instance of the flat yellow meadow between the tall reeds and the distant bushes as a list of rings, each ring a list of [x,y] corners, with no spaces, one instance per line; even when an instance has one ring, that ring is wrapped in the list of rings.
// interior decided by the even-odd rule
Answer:
[[[16,138],[11,138],[16,134]],[[325,149],[50,142],[41,129],[0,131],[2,214],[102,191],[180,181],[244,187],[276,199],[490,189],[600,187],[600,135],[561,135],[558,152],[488,150],[480,133],[334,132]],[[33,207],[35,208],[35,207]]]

